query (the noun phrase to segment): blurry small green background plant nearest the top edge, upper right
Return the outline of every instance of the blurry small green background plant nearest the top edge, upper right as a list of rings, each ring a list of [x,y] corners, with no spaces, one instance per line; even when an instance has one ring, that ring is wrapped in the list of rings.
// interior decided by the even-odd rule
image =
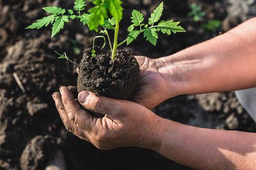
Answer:
[[[190,12],[188,13],[189,18],[193,18],[194,22],[202,21],[204,16],[206,15],[204,11],[202,11],[202,7],[197,5],[196,3],[191,3],[189,5]]]

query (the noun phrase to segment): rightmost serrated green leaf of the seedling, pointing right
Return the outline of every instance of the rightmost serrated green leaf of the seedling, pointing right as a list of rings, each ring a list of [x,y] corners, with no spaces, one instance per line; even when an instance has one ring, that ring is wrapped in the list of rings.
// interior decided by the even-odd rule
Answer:
[[[171,34],[171,31],[176,32],[186,32],[184,28],[182,28],[180,25],[178,25],[180,22],[172,22],[172,20],[168,20],[167,22],[160,22],[157,26],[157,28],[160,28],[160,30],[163,33],[167,33],[168,35]]]

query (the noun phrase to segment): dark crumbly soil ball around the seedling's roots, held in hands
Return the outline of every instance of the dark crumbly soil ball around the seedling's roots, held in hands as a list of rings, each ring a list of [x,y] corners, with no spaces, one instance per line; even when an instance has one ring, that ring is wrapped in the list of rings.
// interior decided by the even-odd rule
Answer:
[[[96,96],[128,100],[139,80],[139,64],[130,50],[118,49],[114,63],[110,63],[111,51],[95,46],[85,51],[79,64],[77,91],[91,91]]]

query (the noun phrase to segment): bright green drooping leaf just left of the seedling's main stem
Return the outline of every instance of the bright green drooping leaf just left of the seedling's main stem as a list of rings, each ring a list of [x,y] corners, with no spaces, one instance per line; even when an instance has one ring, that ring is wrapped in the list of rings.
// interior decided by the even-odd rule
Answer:
[[[97,29],[98,25],[103,24],[105,18],[108,18],[108,12],[104,6],[95,6],[89,10],[89,29]]]

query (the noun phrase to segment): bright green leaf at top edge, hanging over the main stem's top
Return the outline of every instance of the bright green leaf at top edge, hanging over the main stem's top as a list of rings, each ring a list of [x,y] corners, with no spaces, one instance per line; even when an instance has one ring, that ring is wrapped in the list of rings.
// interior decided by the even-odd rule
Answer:
[[[117,19],[118,21],[120,21],[122,19],[123,16],[123,8],[121,6],[121,1],[119,0],[107,0],[106,4],[108,5],[108,9],[110,14]]]

